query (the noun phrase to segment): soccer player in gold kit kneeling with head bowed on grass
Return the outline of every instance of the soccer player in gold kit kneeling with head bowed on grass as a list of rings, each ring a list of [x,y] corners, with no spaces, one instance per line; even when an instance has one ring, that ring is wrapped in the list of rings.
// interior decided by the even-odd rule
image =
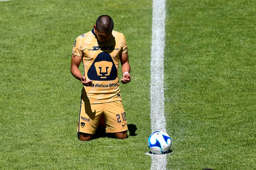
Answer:
[[[114,22],[101,15],[92,31],[76,38],[71,57],[71,74],[83,84],[78,120],[79,140],[90,140],[103,117],[107,133],[127,137],[127,121],[122,105],[117,70],[122,65],[121,82],[131,81],[131,66],[123,33],[113,30]],[[84,75],[79,70],[83,62]]]

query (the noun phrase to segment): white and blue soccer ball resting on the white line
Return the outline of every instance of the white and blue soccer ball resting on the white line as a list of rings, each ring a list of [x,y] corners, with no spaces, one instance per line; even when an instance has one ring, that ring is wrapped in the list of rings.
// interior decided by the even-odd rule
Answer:
[[[170,150],[171,145],[171,137],[163,131],[155,131],[148,137],[148,148],[152,153],[166,153]]]

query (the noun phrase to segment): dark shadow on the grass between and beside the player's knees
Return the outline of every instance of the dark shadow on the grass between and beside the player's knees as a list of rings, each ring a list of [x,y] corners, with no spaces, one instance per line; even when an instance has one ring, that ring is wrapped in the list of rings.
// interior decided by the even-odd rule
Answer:
[[[129,130],[129,133],[130,133],[129,136],[137,136],[137,134],[135,133],[136,130],[137,130],[136,125],[128,124],[127,127],[128,127],[128,130]],[[98,126],[98,128],[96,129],[95,134],[92,136],[92,139],[97,139],[97,138],[100,138],[100,137],[114,138],[114,136],[112,134],[106,133],[105,128],[102,125]]]

